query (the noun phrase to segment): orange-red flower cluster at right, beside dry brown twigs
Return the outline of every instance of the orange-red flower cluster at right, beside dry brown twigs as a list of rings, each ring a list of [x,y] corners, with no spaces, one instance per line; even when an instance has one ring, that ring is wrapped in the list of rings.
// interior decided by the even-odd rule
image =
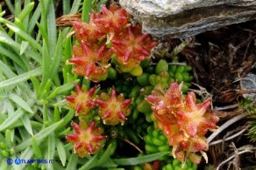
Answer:
[[[209,111],[210,99],[196,104],[195,92],[183,96],[181,86],[175,82],[165,92],[154,89],[146,100],[152,105],[157,126],[173,146],[174,157],[181,161],[189,158],[196,164],[202,155],[207,160],[204,151],[208,150],[208,144],[204,135],[208,130],[216,130],[218,121],[218,117]]]

